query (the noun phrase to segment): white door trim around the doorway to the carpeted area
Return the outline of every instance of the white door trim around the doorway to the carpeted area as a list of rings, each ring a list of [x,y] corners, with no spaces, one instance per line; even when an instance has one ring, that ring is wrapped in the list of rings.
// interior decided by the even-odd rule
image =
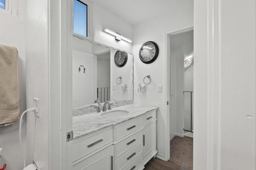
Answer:
[[[164,69],[164,73],[165,73],[165,95],[164,98],[167,102],[169,101],[169,97],[170,97],[170,35],[174,35],[174,34],[178,34],[178,33],[183,33],[183,32],[187,32],[187,31],[191,31],[194,30],[194,24],[190,24],[190,25],[186,25],[184,27],[179,27],[176,29],[172,29],[170,31],[166,31],[164,33],[164,39],[165,39],[165,69]],[[166,154],[164,155],[164,159],[165,160],[169,160],[170,159],[170,107],[169,105],[166,104],[165,107],[165,111],[167,114],[167,125],[165,126],[165,136],[166,136],[166,140],[165,140],[165,150],[166,150]]]

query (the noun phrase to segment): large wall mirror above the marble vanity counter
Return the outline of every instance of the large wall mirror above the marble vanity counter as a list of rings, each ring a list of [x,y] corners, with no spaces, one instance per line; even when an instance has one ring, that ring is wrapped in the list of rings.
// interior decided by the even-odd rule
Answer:
[[[94,41],[73,40],[73,109],[95,105],[97,99],[132,100],[133,55]]]

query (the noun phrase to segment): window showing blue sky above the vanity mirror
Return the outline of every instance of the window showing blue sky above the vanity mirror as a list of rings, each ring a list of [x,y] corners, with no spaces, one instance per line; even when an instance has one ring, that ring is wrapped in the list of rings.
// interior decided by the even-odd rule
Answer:
[[[80,0],[74,0],[74,33],[88,37],[88,5]]]

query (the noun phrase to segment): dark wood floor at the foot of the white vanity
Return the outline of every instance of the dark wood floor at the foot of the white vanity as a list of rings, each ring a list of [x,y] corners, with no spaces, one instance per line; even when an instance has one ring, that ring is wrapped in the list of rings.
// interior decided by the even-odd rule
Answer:
[[[164,161],[159,158],[152,158],[146,165],[144,170],[187,170],[170,161]]]

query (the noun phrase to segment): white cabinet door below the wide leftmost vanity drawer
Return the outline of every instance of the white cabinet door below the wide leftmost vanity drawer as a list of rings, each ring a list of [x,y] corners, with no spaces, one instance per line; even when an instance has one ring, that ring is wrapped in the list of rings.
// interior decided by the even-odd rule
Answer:
[[[73,170],[113,170],[114,145],[74,165]]]

